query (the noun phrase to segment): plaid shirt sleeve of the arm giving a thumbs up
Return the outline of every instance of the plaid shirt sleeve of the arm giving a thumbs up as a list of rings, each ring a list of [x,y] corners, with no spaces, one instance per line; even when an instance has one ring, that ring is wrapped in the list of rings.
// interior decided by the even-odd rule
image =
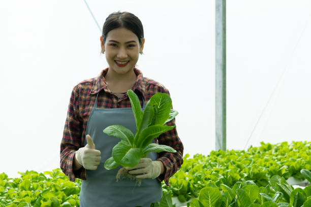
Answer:
[[[68,106],[63,139],[60,143],[60,169],[74,182],[76,178],[86,180],[85,168],[73,170],[73,160],[76,151],[84,147],[82,137],[82,121],[79,119],[79,85],[74,87]]]

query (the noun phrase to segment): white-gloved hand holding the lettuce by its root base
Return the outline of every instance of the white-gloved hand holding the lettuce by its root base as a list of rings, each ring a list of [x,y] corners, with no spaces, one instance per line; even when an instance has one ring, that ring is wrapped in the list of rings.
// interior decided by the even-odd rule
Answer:
[[[135,167],[126,167],[129,174],[143,174],[136,178],[158,178],[161,174],[161,161],[152,161],[150,158],[141,158]]]

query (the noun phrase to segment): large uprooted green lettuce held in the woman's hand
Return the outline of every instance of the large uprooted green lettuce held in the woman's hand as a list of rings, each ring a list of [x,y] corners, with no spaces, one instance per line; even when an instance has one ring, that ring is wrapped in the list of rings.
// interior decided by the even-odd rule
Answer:
[[[138,96],[132,90],[128,90],[128,95],[136,121],[136,133],[134,135],[122,125],[111,125],[103,130],[104,133],[121,139],[121,142],[113,147],[112,157],[106,160],[106,169],[113,169],[119,165],[134,167],[140,158],[146,157],[149,152],[176,152],[169,146],[151,143],[154,138],[175,127],[164,125],[178,114],[171,109],[170,96],[166,93],[154,94],[142,111]]]

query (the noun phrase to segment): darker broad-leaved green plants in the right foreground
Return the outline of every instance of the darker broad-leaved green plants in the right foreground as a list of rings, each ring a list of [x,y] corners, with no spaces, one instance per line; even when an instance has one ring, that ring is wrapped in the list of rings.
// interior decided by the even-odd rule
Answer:
[[[302,176],[311,182],[311,172],[301,170]],[[161,202],[151,206],[173,207],[171,194],[166,192]],[[266,187],[258,187],[253,181],[236,182],[233,187],[220,187],[208,183],[198,198],[187,202],[191,207],[310,207],[311,186],[294,189],[283,177],[272,176]]]

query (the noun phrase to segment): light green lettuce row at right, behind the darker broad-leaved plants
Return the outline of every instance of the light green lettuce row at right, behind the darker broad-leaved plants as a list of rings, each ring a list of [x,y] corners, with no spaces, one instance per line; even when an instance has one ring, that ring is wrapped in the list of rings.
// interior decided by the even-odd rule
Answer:
[[[266,187],[272,176],[286,180],[289,177],[304,179],[300,170],[311,170],[311,143],[287,142],[244,150],[212,151],[209,155],[184,156],[181,168],[170,178],[170,187],[163,189],[179,201],[196,198],[207,185],[232,188],[237,182],[252,181],[258,187]]]

